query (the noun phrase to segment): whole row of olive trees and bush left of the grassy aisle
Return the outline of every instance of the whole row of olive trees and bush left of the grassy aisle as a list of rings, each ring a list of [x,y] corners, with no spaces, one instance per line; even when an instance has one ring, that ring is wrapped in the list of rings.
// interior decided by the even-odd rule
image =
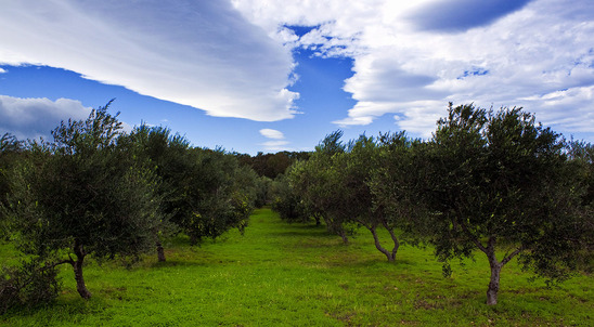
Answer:
[[[254,170],[163,127],[124,133],[109,104],[86,120],[63,121],[52,142],[1,138],[0,236],[24,256],[0,275],[0,312],[55,298],[61,264],[72,265],[88,299],[88,256],[134,260],[156,248],[165,261],[167,237],[183,233],[197,244],[247,226]]]

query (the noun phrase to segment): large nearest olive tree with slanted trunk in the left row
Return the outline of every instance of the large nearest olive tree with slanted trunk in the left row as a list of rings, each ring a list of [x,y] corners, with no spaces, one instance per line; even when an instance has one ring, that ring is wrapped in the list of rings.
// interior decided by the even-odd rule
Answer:
[[[109,104],[86,120],[63,121],[53,143],[29,145],[4,210],[18,248],[53,266],[70,264],[85,299],[87,256],[134,258],[154,246],[160,221],[155,175],[118,143],[121,122],[107,113]]]

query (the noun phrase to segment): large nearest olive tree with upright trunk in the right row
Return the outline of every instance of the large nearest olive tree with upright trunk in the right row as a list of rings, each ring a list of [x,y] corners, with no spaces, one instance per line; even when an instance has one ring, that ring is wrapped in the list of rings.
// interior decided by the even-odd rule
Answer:
[[[558,134],[521,108],[450,104],[417,155],[416,194],[446,274],[451,259],[478,249],[491,269],[487,304],[496,304],[502,267],[517,256],[538,275],[568,277],[592,218]]]

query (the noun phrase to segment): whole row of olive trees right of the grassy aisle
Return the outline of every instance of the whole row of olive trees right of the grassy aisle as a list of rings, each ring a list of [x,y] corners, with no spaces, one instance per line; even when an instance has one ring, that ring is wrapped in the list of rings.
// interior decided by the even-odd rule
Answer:
[[[429,244],[443,262],[486,256],[487,303],[518,258],[550,282],[591,265],[594,147],[566,141],[521,108],[453,106],[427,141],[404,132],[328,134],[307,161],[273,183],[273,209],[289,222],[325,222],[348,243],[354,227],[396,260],[400,244]],[[378,230],[390,236],[380,243]]]

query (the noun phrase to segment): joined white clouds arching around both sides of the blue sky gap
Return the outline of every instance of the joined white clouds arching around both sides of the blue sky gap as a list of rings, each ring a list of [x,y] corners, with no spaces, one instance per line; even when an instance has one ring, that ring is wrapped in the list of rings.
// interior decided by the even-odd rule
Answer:
[[[429,135],[452,101],[524,106],[564,132],[590,131],[594,1],[481,3],[10,1],[0,64],[62,67],[212,116],[272,121],[296,114],[290,51],[306,47],[353,58],[344,89],[357,103],[341,126],[390,114]],[[286,25],[315,28],[299,38]]]

